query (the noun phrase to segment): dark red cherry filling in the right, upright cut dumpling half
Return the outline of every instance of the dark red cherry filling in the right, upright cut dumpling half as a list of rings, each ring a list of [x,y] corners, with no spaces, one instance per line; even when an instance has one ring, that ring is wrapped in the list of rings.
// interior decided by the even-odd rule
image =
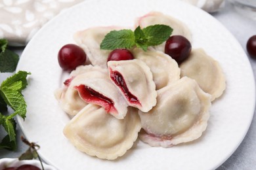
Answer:
[[[118,71],[112,71],[110,69],[110,78],[115,82],[116,86],[118,86],[121,90],[121,92],[124,93],[126,99],[129,101],[129,103],[133,103],[135,105],[140,105],[139,99],[133,95],[131,92],[129,92],[127,85],[125,83],[125,80],[123,79],[123,76]]]

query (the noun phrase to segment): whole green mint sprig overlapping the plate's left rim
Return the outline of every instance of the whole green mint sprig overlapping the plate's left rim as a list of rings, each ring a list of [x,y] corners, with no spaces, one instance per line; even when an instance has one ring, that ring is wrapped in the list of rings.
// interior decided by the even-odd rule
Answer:
[[[18,114],[23,119],[26,118],[27,105],[21,92],[28,85],[26,80],[28,75],[30,73],[26,71],[18,71],[18,73],[4,80],[0,86],[0,125],[7,132],[7,136],[0,143],[0,148],[16,149],[16,122],[14,116]],[[7,105],[14,110],[12,114],[2,114],[6,111]]]

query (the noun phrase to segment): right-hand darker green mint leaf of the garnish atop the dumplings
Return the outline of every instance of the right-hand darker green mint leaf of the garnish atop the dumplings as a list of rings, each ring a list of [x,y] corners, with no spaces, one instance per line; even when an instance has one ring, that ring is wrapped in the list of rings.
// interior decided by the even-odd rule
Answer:
[[[157,24],[145,27],[142,31],[148,39],[148,46],[156,46],[167,41],[173,29],[168,25]]]

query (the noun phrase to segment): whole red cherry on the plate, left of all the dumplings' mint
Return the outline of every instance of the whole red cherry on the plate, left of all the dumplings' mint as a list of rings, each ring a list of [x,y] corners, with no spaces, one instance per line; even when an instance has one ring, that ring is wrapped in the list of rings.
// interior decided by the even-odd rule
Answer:
[[[72,71],[86,61],[84,50],[75,44],[66,44],[58,52],[58,63],[65,71]]]

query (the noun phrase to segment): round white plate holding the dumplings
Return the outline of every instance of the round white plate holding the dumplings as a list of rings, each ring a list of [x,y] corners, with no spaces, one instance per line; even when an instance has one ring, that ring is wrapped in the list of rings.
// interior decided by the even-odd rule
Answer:
[[[226,91],[213,102],[207,130],[192,143],[154,148],[138,142],[115,161],[87,156],[62,134],[69,118],[53,93],[67,75],[58,66],[58,50],[74,42],[75,31],[99,25],[131,27],[136,17],[152,10],[174,16],[190,27],[193,47],[204,48],[223,67]],[[212,16],[179,1],[85,1],[58,15],[33,37],[18,70],[32,73],[24,90],[27,118],[18,122],[26,137],[41,146],[43,159],[58,169],[215,169],[244,139],[255,107],[253,73],[240,44]]]

